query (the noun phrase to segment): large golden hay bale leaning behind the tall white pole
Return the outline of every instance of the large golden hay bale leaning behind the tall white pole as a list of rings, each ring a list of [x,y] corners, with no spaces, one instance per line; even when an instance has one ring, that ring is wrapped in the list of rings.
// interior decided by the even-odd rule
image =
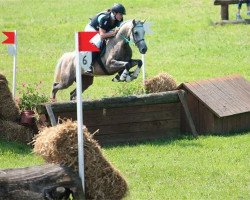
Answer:
[[[127,183],[109,163],[98,143],[84,130],[86,199],[119,200],[127,192]],[[77,124],[71,120],[45,128],[34,138],[34,152],[46,162],[63,164],[78,170]]]

